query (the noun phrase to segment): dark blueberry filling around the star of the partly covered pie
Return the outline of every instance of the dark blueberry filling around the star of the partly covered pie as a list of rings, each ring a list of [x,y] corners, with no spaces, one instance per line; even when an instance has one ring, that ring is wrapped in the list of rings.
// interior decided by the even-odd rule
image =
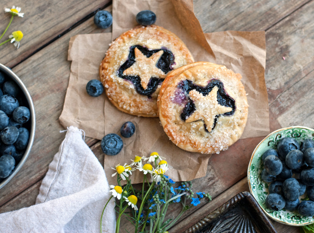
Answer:
[[[146,95],[149,98],[151,98],[151,95],[155,92],[157,89],[158,85],[164,81],[162,78],[156,78],[152,77],[149,81],[149,84],[147,85],[147,88],[144,89],[141,85],[141,78],[139,76],[129,76],[129,75],[123,75],[123,71],[125,71],[127,68],[131,67],[133,63],[135,62],[135,52],[134,49],[138,48],[143,55],[146,57],[152,56],[154,53],[159,52],[160,50],[163,50],[164,53],[161,55],[160,59],[158,60],[156,66],[162,70],[165,74],[168,73],[169,71],[173,70],[173,66],[175,64],[175,57],[174,54],[165,48],[162,49],[155,49],[155,50],[148,50],[147,48],[141,46],[141,45],[134,45],[130,47],[130,53],[127,58],[127,61],[120,66],[119,71],[118,71],[118,76],[120,78],[127,79],[131,81],[137,93],[141,95]]]

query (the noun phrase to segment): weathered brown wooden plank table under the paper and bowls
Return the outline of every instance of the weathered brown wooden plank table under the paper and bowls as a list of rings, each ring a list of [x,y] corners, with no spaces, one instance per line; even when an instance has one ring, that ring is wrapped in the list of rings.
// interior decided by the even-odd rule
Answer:
[[[1,7],[18,5],[25,13],[16,17],[11,30],[22,30],[20,48],[0,47],[0,63],[9,66],[28,88],[35,105],[36,133],[30,156],[15,177],[0,190],[0,213],[35,203],[41,181],[64,135],[59,123],[70,73],[67,61],[71,36],[110,32],[98,29],[93,16],[99,9],[110,10],[108,0],[3,0]],[[314,1],[311,0],[195,0],[194,11],[204,32],[239,30],[266,32],[266,71],[270,130],[291,125],[314,128]],[[10,17],[0,13],[2,32]],[[262,137],[263,138],[263,137]],[[262,138],[247,140],[241,161],[226,171],[225,159],[212,156],[206,177],[193,185],[208,192],[213,200],[182,216],[170,232],[181,232],[241,191],[248,191],[246,171],[251,153]],[[86,143],[103,164],[100,142]],[[297,227],[273,221],[279,233],[299,232]],[[121,229],[127,225],[122,222]]]

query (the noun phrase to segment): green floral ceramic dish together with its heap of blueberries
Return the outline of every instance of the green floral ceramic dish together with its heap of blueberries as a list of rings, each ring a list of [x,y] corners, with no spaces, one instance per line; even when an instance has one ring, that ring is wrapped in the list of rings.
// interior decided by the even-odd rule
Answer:
[[[276,130],[254,149],[249,189],[271,219],[293,226],[314,223],[314,130]]]

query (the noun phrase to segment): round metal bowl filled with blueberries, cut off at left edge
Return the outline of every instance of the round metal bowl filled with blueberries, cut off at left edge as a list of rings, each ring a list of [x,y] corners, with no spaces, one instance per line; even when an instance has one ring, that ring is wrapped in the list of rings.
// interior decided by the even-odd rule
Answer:
[[[24,83],[0,64],[0,188],[19,171],[35,136],[35,110]]]

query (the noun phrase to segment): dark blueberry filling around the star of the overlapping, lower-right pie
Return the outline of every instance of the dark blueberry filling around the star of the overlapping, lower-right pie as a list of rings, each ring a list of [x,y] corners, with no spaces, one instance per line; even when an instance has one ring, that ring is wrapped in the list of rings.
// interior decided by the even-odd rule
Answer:
[[[231,98],[225,92],[224,84],[218,79],[210,80],[206,87],[198,86],[198,85],[192,83],[191,80],[181,81],[177,87],[182,89],[186,96],[193,89],[195,89],[199,93],[202,93],[203,96],[206,96],[206,95],[208,95],[209,92],[211,92],[211,90],[214,88],[214,86],[218,87],[218,92],[217,92],[218,103],[220,105],[232,108],[232,110],[230,112],[224,113],[223,115],[224,116],[230,116],[230,115],[234,114],[234,112],[236,110],[235,100],[233,98]],[[188,98],[188,102],[185,104],[184,109],[182,110],[182,112],[180,114],[181,119],[185,121],[195,110],[196,109],[195,109],[195,105],[194,105],[193,101],[190,98]],[[213,129],[217,123],[218,117],[219,117],[219,115],[215,116]],[[208,132],[205,124],[204,124],[204,127],[205,127],[205,131]]]

